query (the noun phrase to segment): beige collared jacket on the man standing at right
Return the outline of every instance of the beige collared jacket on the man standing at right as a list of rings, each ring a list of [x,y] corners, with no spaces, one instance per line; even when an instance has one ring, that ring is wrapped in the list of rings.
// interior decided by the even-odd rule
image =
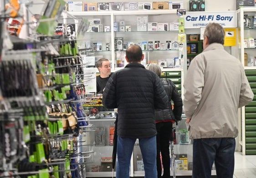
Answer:
[[[254,94],[243,65],[222,44],[210,44],[191,61],[184,89],[189,138],[238,135],[238,108],[250,103]]]

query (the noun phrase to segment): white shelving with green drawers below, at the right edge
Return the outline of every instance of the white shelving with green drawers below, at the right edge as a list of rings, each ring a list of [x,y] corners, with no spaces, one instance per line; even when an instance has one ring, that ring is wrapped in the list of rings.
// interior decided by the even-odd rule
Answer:
[[[248,46],[245,43],[245,39],[252,38],[256,39],[256,27],[255,22],[250,21],[251,17],[256,15],[256,7],[245,7],[237,10],[238,19],[238,33],[237,33],[237,47],[238,47],[238,58],[241,59],[241,63],[245,66],[246,76],[250,82],[251,88],[255,93],[255,70],[256,70],[256,49],[255,44],[253,46]],[[247,17],[245,17],[247,15]],[[249,17],[250,18],[249,18]],[[245,18],[244,18],[245,17]],[[249,21],[250,22],[249,22]],[[246,41],[247,42],[247,41]],[[256,108],[254,107],[255,99],[241,108],[239,115],[239,130],[241,134],[238,136],[239,145],[242,150],[242,154],[256,154],[256,142],[254,133],[253,118]],[[254,140],[254,141],[253,141]]]

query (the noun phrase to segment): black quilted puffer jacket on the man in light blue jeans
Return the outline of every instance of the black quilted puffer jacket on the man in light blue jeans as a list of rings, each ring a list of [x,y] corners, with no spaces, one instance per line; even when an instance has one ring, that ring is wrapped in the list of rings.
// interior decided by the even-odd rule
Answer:
[[[168,96],[153,71],[130,63],[108,79],[102,103],[109,109],[118,108],[118,136],[150,138],[157,134],[154,109],[167,108]]]

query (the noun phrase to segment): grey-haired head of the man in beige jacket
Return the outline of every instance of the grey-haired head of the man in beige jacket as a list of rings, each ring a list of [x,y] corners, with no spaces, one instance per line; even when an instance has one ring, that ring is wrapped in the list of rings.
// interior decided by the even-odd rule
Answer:
[[[220,43],[224,44],[225,30],[218,23],[209,23],[205,27],[204,37],[207,36],[209,44]]]

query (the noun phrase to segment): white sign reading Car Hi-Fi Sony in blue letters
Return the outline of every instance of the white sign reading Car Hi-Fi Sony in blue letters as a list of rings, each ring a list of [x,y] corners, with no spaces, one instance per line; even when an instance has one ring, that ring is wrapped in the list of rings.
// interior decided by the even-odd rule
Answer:
[[[185,29],[197,29],[205,27],[212,22],[219,23],[223,28],[236,28],[236,10],[223,12],[187,12],[184,27]]]

